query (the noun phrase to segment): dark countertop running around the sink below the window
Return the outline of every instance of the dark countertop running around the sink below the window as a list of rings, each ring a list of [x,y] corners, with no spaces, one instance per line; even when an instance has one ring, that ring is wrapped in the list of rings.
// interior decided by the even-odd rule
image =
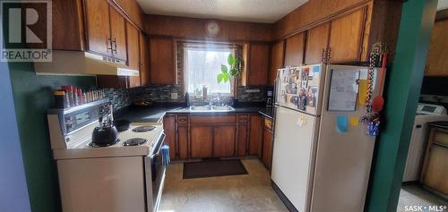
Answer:
[[[154,106],[126,106],[116,112],[116,120],[125,119],[134,123],[157,123],[165,114],[239,114],[260,113],[268,118],[273,118],[273,107],[262,106],[237,106],[234,111],[228,112],[191,112],[188,107],[180,104],[158,104]]]

